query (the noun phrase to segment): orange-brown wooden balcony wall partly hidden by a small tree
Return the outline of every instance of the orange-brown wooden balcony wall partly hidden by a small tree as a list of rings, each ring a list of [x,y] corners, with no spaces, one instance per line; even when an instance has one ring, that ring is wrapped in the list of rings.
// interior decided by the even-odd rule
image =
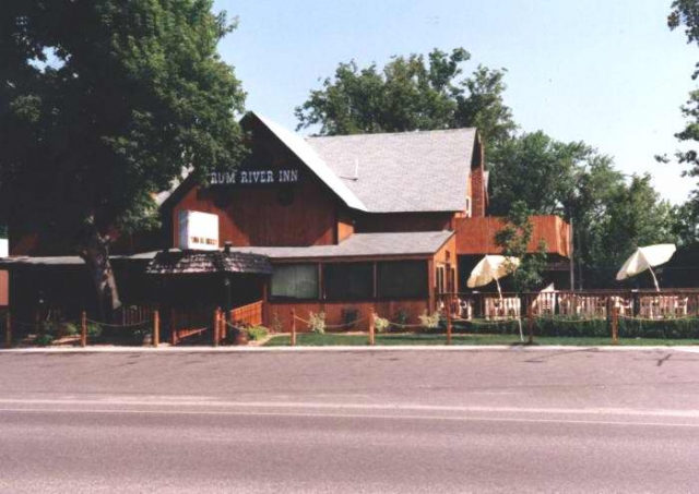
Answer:
[[[570,225],[558,216],[533,216],[534,233],[529,244],[535,252],[538,241],[546,242],[548,254],[570,255]],[[457,253],[497,254],[502,250],[495,244],[495,233],[505,226],[503,218],[473,217],[457,219]]]

